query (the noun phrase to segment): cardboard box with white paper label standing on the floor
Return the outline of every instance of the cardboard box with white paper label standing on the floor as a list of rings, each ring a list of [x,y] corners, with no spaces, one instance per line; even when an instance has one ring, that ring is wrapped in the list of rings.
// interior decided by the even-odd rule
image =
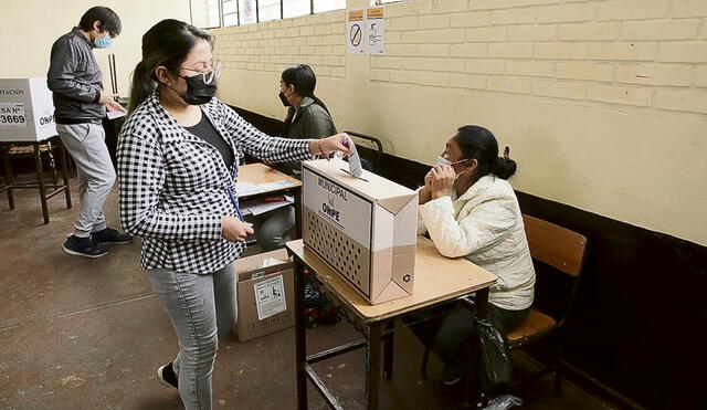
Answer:
[[[287,251],[281,249],[242,257],[235,267],[239,340],[251,340],[295,325],[295,276]]]

